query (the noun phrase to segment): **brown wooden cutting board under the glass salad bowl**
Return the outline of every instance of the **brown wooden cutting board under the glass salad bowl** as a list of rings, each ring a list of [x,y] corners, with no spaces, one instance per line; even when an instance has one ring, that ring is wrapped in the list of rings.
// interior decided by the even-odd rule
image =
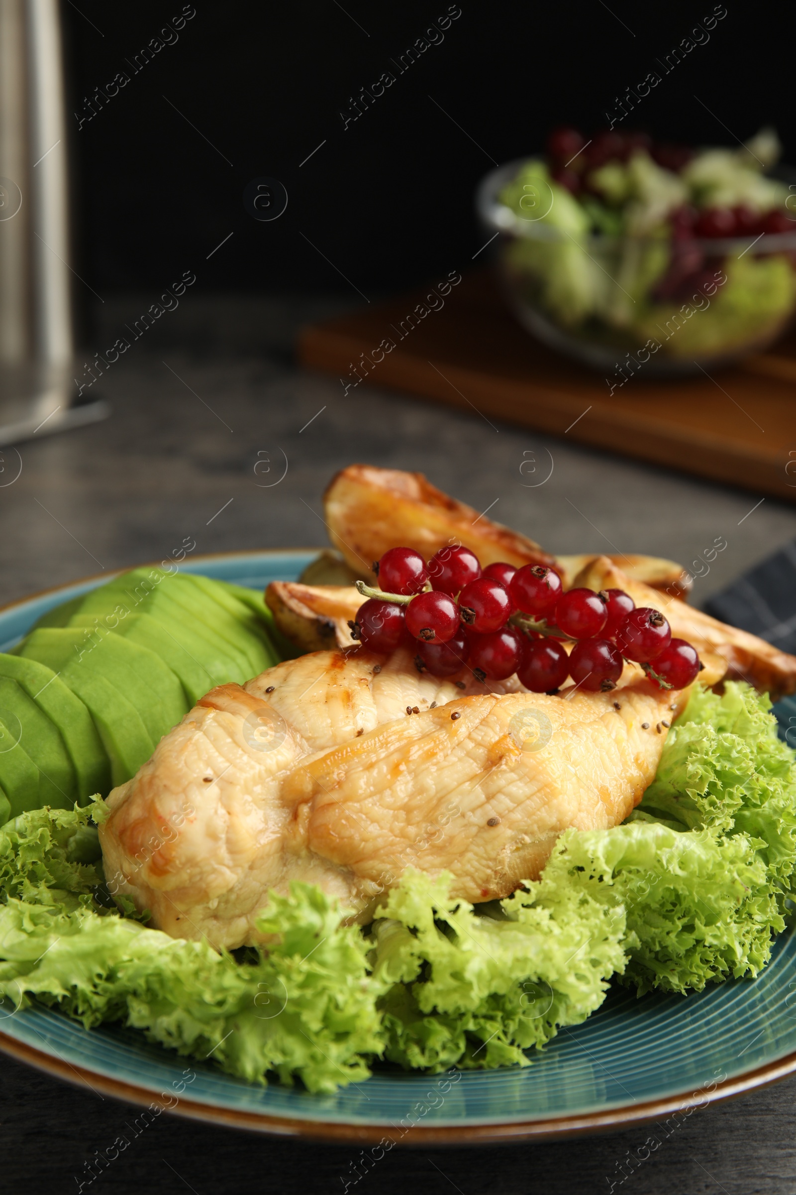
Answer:
[[[601,374],[539,344],[492,276],[473,274],[411,327],[426,292],[303,329],[303,364],[796,502],[796,336],[710,376],[649,380],[609,394]],[[434,299],[432,302],[438,304]],[[380,353],[384,338],[395,343]],[[378,360],[378,357],[382,360]],[[612,380],[616,380],[612,375]]]

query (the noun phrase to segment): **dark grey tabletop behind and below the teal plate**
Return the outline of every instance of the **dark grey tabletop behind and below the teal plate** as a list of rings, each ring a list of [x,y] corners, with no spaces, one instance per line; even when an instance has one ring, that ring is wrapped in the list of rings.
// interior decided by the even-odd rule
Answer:
[[[149,302],[109,300],[92,354]],[[290,349],[300,319],[339,306],[197,295],[98,380],[95,391],[101,387],[112,404],[110,419],[37,436],[19,446],[19,456],[4,449],[0,602],[161,558],[186,535],[199,552],[323,545],[321,494],[351,461],[420,470],[554,551],[640,551],[687,565],[721,535],[728,546],[697,582],[697,603],[796,537],[796,507],[770,498],[753,509],[759,502],[753,494],[590,452],[566,439],[493,427],[475,412],[451,413],[364,386],[343,397],[335,380],[300,372]],[[283,480],[261,488],[280,477],[285,460]],[[795,1098],[796,1078],[695,1113],[627,1179],[627,1189],[790,1195]],[[110,1098],[0,1058],[4,1189],[78,1190],[84,1163],[134,1115]],[[617,1160],[644,1139],[643,1127],[636,1127],[560,1144],[396,1150],[358,1187],[365,1195],[407,1188],[432,1195],[607,1191]],[[341,1176],[357,1154],[353,1147],[247,1135],[163,1115],[91,1190],[341,1191]]]

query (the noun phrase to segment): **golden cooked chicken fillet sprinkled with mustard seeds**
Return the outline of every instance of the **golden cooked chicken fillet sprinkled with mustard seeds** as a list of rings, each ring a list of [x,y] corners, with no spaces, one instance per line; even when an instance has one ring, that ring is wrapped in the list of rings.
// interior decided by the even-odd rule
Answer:
[[[359,649],[222,685],[111,792],[109,887],[229,949],[258,940],[269,890],[294,880],[360,918],[409,866],[450,871],[474,902],[506,896],[563,829],[617,825],[652,782],[687,692],[625,674],[604,694],[462,695],[406,651]]]

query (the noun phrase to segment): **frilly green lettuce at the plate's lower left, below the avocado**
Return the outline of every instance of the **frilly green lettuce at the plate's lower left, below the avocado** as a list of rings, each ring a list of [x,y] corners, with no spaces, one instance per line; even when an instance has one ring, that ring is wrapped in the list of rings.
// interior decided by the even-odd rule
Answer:
[[[97,870],[73,858],[87,829],[86,810],[38,809],[0,832],[4,1003],[57,1004],[87,1029],[122,1022],[253,1083],[274,1072],[334,1091],[368,1078],[383,1048],[378,988],[335,901],[310,884],[271,893],[259,925],[278,940],[239,962],[104,908]]]

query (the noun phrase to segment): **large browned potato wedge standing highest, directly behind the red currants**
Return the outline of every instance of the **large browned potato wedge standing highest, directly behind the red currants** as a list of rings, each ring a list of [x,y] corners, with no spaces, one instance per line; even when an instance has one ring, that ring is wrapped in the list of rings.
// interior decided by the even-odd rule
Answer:
[[[463,544],[483,565],[554,564],[532,539],[449,498],[422,473],[350,465],[332,478],[323,502],[332,543],[352,569],[370,578],[374,560],[399,546],[426,559],[449,544]]]

